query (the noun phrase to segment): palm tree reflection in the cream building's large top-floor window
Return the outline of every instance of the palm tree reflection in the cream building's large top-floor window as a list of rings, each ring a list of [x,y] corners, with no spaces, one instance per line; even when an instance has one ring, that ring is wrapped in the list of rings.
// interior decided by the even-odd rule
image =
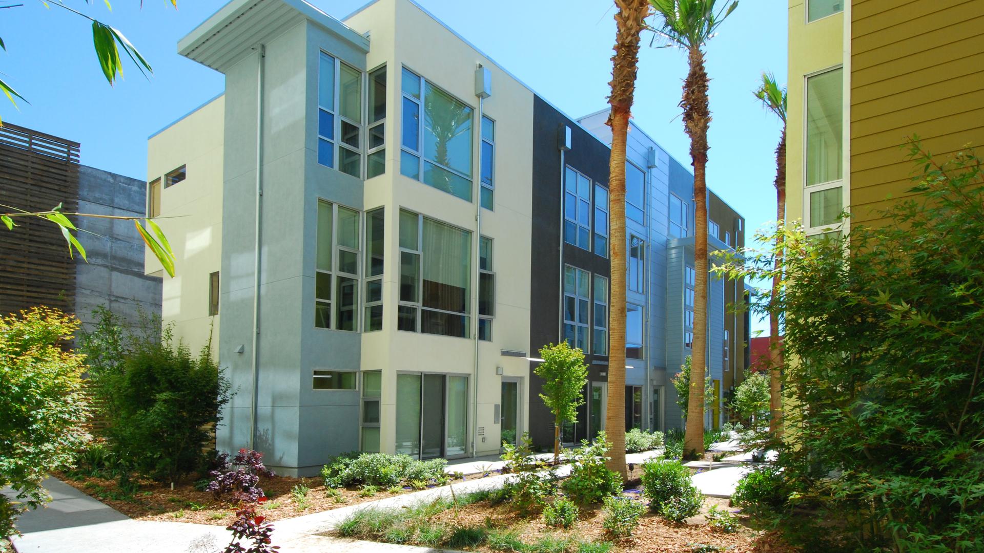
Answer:
[[[461,163],[452,164],[450,147],[454,139],[471,131],[471,108],[443,92],[430,89],[427,91],[424,117],[426,130],[434,140],[433,153],[426,152],[425,155],[435,163],[448,168],[454,167],[456,170],[469,174],[470,176],[470,149],[467,151],[468,158],[466,164],[468,165],[468,169],[462,171],[461,167],[455,166],[461,165]],[[432,154],[433,157],[431,156]],[[431,171],[431,174],[433,182],[429,184],[435,188],[454,194],[454,186],[451,182],[453,175],[450,172]]]

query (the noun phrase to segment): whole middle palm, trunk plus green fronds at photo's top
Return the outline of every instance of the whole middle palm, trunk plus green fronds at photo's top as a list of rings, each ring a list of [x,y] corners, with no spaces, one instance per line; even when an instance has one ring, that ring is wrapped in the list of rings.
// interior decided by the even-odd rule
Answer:
[[[690,401],[687,406],[687,431],[684,451],[704,454],[704,375],[707,356],[707,127],[710,110],[707,106],[707,71],[704,68],[704,50],[707,40],[714,35],[738,2],[731,2],[715,10],[717,0],[649,0],[656,12],[656,25],[652,31],[666,40],[667,45],[687,50],[690,71],[683,84],[683,124],[690,137],[690,156],[694,165],[695,243],[694,269],[697,279],[694,285],[694,359],[690,379]],[[613,215],[614,216],[614,215]],[[612,265],[614,266],[614,259]],[[693,378],[693,375],[699,375]]]

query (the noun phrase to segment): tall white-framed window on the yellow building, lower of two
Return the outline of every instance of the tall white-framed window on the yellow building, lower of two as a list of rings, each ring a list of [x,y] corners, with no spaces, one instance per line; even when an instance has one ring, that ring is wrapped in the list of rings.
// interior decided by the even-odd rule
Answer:
[[[806,181],[808,228],[834,224],[843,208],[843,70],[807,79]]]

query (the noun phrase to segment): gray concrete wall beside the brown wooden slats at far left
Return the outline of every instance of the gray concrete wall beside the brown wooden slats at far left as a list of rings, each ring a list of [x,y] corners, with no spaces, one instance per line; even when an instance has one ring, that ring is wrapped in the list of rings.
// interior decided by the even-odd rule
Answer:
[[[147,184],[94,167],[79,167],[79,212],[144,216]],[[144,241],[133,221],[78,217],[79,242],[89,263],[77,258],[76,316],[92,328],[92,310],[102,306],[130,322],[141,311],[160,315],[160,277],[144,275]]]

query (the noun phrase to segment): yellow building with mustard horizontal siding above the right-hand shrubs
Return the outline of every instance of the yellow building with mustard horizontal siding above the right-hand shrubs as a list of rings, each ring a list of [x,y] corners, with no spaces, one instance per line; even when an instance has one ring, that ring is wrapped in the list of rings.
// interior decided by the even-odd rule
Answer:
[[[787,220],[877,224],[912,186],[907,137],[984,145],[982,26],[982,0],[790,0]]]

